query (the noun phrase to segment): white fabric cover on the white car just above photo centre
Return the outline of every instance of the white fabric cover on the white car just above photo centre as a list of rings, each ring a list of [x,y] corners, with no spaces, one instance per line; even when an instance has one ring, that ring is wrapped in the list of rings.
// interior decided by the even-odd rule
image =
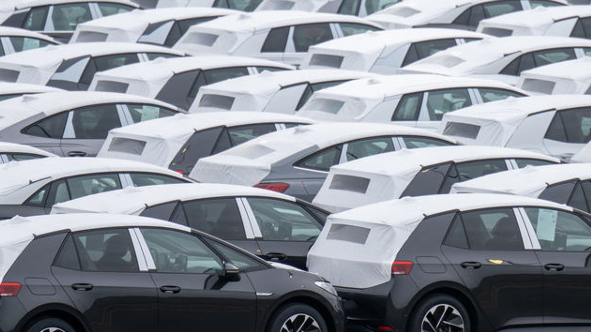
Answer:
[[[277,94],[282,87],[302,83],[313,84],[378,76],[378,74],[363,73],[362,71],[334,69],[284,70],[274,72],[263,71],[258,75],[236,77],[235,79],[229,79],[201,87],[189,112],[246,110],[275,113],[289,112],[290,114],[293,114],[298,100],[284,100],[283,104],[291,102],[295,103],[296,105],[293,105],[293,108],[282,108],[281,102],[273,100],[275,94]],[[203,97],[209,95],[232,98],[232,106],[230,109],[200,106]],[[271,103],[271,100],[274,102]]]

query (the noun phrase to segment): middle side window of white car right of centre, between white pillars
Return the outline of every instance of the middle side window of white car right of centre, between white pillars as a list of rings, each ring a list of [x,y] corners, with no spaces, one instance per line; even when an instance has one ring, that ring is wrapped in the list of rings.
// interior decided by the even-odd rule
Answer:
[[[472,105],[468,89],[443,89],[428,92],[427,111],[431,121],[440,121],[452,110]]]

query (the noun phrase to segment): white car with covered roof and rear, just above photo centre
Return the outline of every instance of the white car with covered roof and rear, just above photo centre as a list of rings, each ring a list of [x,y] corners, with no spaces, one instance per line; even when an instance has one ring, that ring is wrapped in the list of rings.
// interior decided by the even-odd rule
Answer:
[[[189,109],[194,112],[256,111],[296,113],[314,92],[377,74],[307,69],[265,72],[203,86]]]

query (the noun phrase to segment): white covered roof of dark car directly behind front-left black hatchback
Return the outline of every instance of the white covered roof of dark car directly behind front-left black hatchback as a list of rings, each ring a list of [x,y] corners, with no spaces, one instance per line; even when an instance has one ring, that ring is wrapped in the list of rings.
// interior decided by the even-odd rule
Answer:
[[[245,185],[183,183],[127,187],[55,204],[51,213],[122,213],[140,214],[150,206],[170,201],[187,201],[212,197],[258,196],[296,201],[296,198],[271,190]]]

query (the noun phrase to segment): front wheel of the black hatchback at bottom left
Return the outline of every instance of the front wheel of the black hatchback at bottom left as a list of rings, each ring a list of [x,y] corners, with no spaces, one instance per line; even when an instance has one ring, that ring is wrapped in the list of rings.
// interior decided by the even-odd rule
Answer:
[[[328,332],[324,317],[310,305],[300,303],[281,307],[268,326],[267,332]]]

